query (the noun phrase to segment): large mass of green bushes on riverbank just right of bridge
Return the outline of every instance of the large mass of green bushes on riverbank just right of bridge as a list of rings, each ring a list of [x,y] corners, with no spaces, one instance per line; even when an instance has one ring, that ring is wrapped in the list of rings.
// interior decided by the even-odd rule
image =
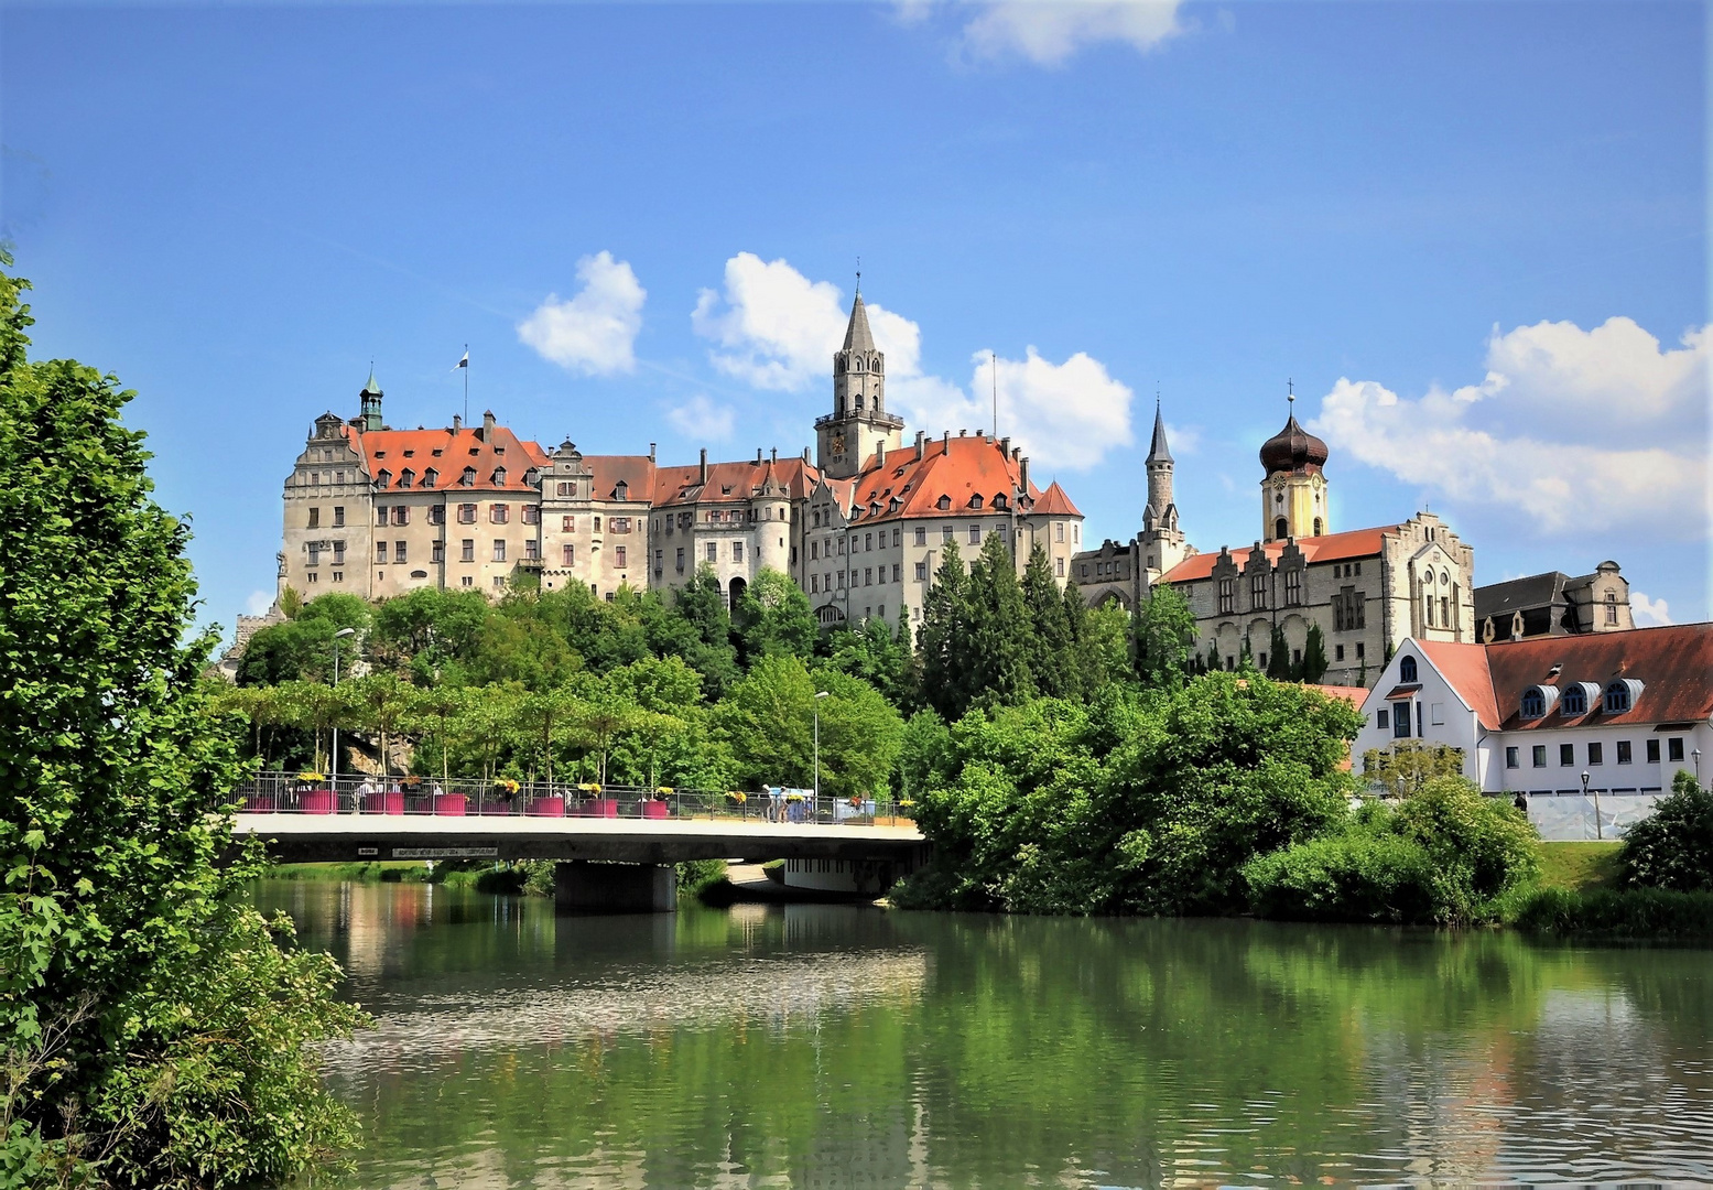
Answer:
[[[1254,673],[973,711],[932,740],[904,907],[1233,913],[1257,854],[1343,825],[1357,712]]]

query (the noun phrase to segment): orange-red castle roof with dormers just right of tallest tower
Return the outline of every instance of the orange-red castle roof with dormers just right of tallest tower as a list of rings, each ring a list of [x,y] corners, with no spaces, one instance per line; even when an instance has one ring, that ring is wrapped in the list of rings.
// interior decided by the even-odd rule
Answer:
[[[853,521],[898,521],[906,517],[942,517],[959,512],[975,512],[973,500],[980,497],[980,510],[994,512],[994,498],[1006,503],[1016,498],[1021,481],[1021,461],[1000,450],[999,442],[985,435],[927,440],[922,457],[915,447],[887,450],[886,461],[870,455],[862,473],[850,479],[850,493],[838,488],[841,505]],[[829,481],[829,486],[833,481]],[[1057,490],[1053,505],[1064,509],[1064,515],[1081,515],[1055,483],[1048,491]],[[940,507],[946,497],[946,507]],[[1028,503],[1019,507],[1019,514],[1042,512],[1042,500],[1047,497],[1033,483],[1030,485]],[[1004,505],[1000,505],[1004,507]]]

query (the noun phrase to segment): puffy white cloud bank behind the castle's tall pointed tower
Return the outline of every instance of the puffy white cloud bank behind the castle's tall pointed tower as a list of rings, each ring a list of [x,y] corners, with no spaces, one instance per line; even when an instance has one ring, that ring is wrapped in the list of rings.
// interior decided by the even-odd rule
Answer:
[[[992,425],[990,353],[973,356],[970,385],[922,368],[922,327],[865,301],[875,346],[886,354],[886,394],[916,428],[980,430]],[[810,281],[786,260],[740,252],[726,260],[721,291],[702,289],[690,324],[713,339],[713,365],[778,392],[826,392],[833,354],[845,342],[850,310],[827,281]],[[1028,348],[999,358],[999,428],[1043,466],[1091,467],[1110,447],[1131,442],[1129,387],[1088,353],[1064,363]]]

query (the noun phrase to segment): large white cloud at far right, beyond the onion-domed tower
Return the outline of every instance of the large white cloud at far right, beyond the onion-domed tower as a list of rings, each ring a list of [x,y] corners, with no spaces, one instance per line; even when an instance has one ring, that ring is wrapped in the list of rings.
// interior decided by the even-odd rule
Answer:
[[[1401,397],[1340,378],[1309,425],[1466,510],[1540,533],[1708,531],[1708,329],[1662,349],[1631,318],[1542,322],[1487,341],[1478,384]]]

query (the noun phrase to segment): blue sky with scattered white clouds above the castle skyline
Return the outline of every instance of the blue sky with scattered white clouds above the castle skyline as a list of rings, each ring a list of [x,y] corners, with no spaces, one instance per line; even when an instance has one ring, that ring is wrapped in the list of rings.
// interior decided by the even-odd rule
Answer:
[[[911,430],[985,425],[1139,527],[1155,392],[1197,546],[1256,450],[1477,577],[1622,563],[1710,615],[1696,3],[0,10],[36,344],[111,370],[206,613],[272,592],[310,421],[795,452],[856,259]],[[1663,608],[1662,603],[1663,601]]]

